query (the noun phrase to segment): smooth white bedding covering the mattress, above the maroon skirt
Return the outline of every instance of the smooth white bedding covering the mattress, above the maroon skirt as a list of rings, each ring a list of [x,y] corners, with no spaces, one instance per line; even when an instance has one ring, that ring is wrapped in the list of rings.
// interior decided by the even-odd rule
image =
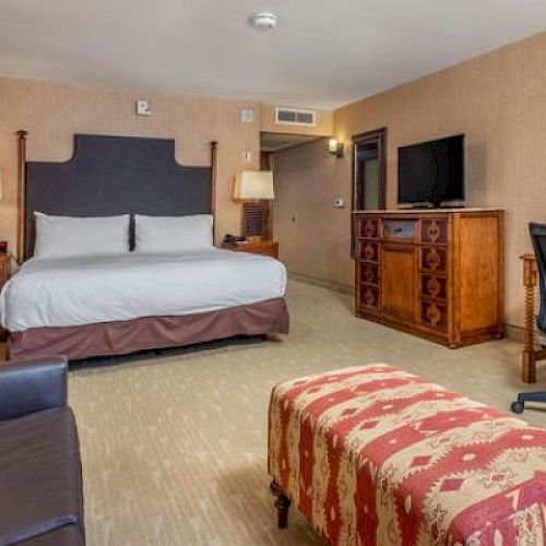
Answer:
[[[0,295],[11,332],[182,316],[284,296],[284,265],[229,250],[31,259]]]

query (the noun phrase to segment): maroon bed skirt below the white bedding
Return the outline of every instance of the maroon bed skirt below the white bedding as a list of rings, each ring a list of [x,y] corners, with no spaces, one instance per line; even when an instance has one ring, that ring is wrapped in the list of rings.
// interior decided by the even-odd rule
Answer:
[[[288,333],[283,298],[182,317],[144,317],[83,327],[35,328],[9,333],[10,359],[66,355],[70,360],[177,347],[234,335]]]

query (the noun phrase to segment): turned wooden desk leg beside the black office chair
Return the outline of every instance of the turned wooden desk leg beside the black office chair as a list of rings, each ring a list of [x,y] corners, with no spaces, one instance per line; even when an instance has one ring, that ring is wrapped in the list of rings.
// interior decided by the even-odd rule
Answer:
[[[525,287],[525,332],[521,361],[521,380],[525,383],[536,381],[535,349],[535,288],[536,260],[534,254],[523,254],[523,285]]]

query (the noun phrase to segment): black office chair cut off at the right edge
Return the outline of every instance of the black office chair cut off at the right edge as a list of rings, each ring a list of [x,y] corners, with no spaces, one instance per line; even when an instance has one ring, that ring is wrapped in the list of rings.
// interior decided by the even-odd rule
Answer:
[[[541,289],[541,310],[536,317],[536,327],[541,333],[546,334],[546,224],[529,224],[529,233],[535,250],[536,264],[538,269],[538,287]],[[543,349],[545,345],[542,343]],[[546,391],[521,392],[518,400],[512,402],[512,412],[522,413],[525,410],[525,402],[546,403]]]

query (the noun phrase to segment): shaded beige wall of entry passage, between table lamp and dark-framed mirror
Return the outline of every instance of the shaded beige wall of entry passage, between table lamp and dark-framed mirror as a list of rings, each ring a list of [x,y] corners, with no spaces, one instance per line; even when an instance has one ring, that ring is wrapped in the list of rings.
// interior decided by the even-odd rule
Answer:
[[[327,139],[275,154],[273,235],[290,271],[352,284],[351,186],[340,180],[336,162]],[[345,199],[344,209],[334,209],[335,197]]]

